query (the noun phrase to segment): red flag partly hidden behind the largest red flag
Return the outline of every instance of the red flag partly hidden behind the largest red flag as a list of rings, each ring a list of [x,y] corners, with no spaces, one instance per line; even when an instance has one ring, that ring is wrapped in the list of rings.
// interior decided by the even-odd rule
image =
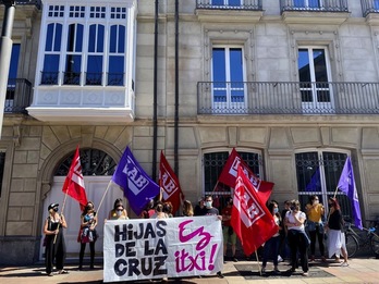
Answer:
[[[237,151],[234,148],[233,148],[232,152],[230,153],[225,165],[222,169],[222,172],[219,176],[219,182],[221,182],[230,187],[234,187],[240,164],[241,164],[244,173],[248,177],[248,180],[252,182],[254,189],[258,193],[258,195],[259,195],[260,199],[264,201],[264,203],[266,203],[267,200],[270,198],[274,183],[259,180],[252,172],[252,170],[248,168],[248,165],[241,159],[240,155],[237,153]]]

